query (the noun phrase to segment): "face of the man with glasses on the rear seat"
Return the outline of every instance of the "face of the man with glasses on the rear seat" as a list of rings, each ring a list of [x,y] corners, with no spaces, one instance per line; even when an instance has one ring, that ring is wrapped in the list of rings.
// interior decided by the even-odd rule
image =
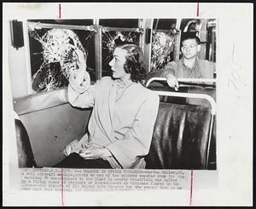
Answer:
[[[194,58],[200,52],[201,45],[197,44],[196,40],[186,39],[183,41],[182,53],[185,59]]]

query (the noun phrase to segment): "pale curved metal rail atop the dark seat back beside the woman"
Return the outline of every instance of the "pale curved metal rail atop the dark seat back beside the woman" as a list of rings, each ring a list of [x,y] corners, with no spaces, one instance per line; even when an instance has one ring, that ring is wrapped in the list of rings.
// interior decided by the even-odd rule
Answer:
[[[206,94],[192,94],[192,93],[170,92],[170,91],[161,91],[161,90],[154,90],[154,91],[160,96],[177,96],[177,97],[188,97],[188,98],[195,98],[195,99],[206,99],[211,104],[212,114],[213,115],[216,114],[217,106],[212,96],[208,96]]]

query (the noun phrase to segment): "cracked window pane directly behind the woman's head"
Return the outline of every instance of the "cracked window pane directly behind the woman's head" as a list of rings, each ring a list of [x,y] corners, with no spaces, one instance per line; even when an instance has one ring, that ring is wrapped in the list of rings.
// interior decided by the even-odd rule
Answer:
[[[139,44],[138,32],[102,32],[102,77],[111,76],[108,63],[113,58],[113,49],[119,44]]]

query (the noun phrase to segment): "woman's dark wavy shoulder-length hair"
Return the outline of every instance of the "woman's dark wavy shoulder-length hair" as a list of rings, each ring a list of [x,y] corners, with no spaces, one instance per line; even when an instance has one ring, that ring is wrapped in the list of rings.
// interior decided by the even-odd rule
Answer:
[[[142,82],[146,77],[145,61],[143,50],[136,44],[124,44],[117,46],[119,49],[127,51],[126,61],[124,64],[125,73],[131,74],[131,81]]]

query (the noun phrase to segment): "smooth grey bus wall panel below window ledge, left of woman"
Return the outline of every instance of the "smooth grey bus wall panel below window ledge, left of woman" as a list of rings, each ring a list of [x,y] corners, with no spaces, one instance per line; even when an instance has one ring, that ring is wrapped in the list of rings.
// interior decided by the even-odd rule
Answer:
[[[20,115],[37,165],[52,166],[64,159],[63,148],[84,135],[90,113],[90,109],[76,109],[67,103]]]

